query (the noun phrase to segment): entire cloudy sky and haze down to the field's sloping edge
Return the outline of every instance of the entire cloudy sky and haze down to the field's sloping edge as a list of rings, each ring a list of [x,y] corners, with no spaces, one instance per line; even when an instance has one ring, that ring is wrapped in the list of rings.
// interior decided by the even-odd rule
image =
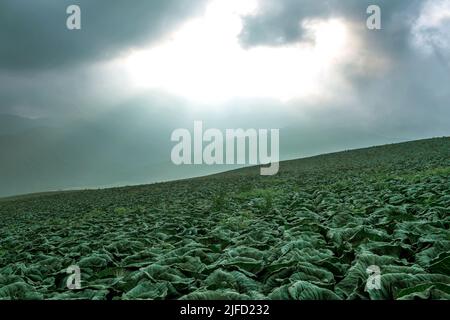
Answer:
[[[282,159],[448,136],[449,83],[450,0],[0,0],[0,195],[184,177],[142,171],[194,120]]]

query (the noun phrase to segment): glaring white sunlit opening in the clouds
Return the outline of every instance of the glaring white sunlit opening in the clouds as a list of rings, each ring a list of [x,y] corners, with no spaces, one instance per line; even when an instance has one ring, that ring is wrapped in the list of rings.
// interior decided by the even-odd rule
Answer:
[[[299,28],[311,41],[244,49],[238,39],[242,16],[257,10],[255,1],[211,2],[203,16],[126,58],[133,86],[200,102],[320,95],[336,65],[349,59],[346,24],[339,19],[308,20]]]

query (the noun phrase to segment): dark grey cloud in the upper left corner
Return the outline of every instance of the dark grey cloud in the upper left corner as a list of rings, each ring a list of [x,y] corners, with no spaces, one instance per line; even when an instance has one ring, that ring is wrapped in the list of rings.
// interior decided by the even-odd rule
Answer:
[[[33,70],[114,57],[156,40],[199,10],[203,0],[2,0],[0,69]],[[81,7],[82,29],[66,28]]]

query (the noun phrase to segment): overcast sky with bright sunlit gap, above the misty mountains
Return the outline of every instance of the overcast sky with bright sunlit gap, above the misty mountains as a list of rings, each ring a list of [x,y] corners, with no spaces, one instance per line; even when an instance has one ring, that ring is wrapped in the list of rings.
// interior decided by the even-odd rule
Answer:
[[[382,30],[366,28],[373,3]],[[66,28],[69,4],[81,8],[81,30]],[[2,0],[0,9],[3,113],[88,116],[169,95],[205,115],[258,112],[254,100],[298,116],[337,109],[399,127],[448,124],[448,0]]]

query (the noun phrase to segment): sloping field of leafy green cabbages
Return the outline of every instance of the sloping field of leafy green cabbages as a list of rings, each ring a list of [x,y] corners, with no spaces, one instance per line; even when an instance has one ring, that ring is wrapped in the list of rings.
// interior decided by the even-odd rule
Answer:
[[[449,299],[449,213],[450,138],[3,199],[0,299]]]

